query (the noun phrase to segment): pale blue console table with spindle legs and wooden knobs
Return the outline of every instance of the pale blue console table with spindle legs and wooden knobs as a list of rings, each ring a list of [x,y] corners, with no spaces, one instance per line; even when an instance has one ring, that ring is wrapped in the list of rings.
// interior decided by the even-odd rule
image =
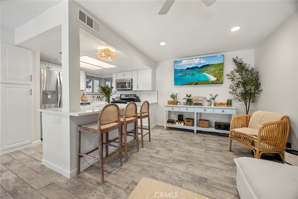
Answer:
[[[193,112],[194,113],[194,126],[181,126],[181,125],[167,125],[167,120],[169,119],[169,111],[177,112]],[[164,105],[164,129],[167,127],[191,129],[196,133],[197,130],[218,132],[218,133],[229,133],[229,131],[215,129],[214,127],[201,128],[197,126],[197,113],[215,113],[215,114],[228,114],[229,123],[231,123],[232,117],[235,116],[236,107],[211,107],[211,106],[183,106],[183,105]]]

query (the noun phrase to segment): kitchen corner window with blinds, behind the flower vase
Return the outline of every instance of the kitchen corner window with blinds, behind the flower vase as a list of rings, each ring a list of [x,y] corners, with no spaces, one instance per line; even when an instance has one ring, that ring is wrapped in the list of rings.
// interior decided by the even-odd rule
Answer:
[[[86,75],[86,94],[98,94],[99,85],[113,86],[113,78],[99,78],[91,75]],[[115,90],[112,93],[116,93]]]

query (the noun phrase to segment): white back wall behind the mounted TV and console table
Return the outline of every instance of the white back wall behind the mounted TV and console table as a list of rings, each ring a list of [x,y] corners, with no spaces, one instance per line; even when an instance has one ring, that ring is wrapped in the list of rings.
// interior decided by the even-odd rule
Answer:
[[[185,85],[185,86],[174,86],[174,62],[175,60],[166,60],[156,62],[156,90],[158,90],[158,104],[157,104],[157,124],[162,125],[164,123],[164,104],[167,104],[170,99],[170,94],[172,91],[178,91],[178,101],[184,101],[182,98],[185,98],[186,94],[191,94],[194,96],[204,96],[209,97],[209,94],[218,94],[218,97],[215,101],[217,102],[226,102],[227,99],[232,99],[232,96],[229,94],[229,81],[226,79],[225,75],[234,69],[234,62],[232,58],[238,56],[239,58],[243,58],[246,63],[251,64],[254,67],[254,49],[250,50],[241,50],[234,51],[228,53],[218,53],[215,55],[224,55],[224,84],[209,84],[209,85]],[[212,56],[212,55],[204,55]],[[197,56],[199,57],[199,56]],[[194,57],[190,57],[194,58]],[[183,58],[188,59],[188,58]],[[178,59],[176,59],[178,60]],[[205,102],[204,102],[205,103]],[[244,103],[236,103],[232,102],[233,107],[237,107],[236,115],[245,114],[245,105]],[[253,112],[253,105],[250,109],[250,113]],[[171,119],[177,119],[177,114],[175,112],[170,113]],[[184,114],[184,118],[186,116],[191,116],[193,118],[193,114],[187,115]],[[210,124],[214,126],[214,121],[220,122],[228,122],[228,115],[219,115],[219,114],[199,114],[198,118],[209,119]]]

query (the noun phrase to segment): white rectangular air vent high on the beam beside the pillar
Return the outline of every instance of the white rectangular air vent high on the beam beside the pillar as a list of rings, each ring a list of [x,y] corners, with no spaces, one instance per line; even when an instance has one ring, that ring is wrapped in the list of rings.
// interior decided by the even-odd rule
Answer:
[[[85,10],[77,8],[77,21],[80,21],[82,24],[84,24],[86,27],[90,28],[94,32],[100,34],[100,25],[97,21],[94,20],[94,17],[92,17],[89,13],[87,13]]]

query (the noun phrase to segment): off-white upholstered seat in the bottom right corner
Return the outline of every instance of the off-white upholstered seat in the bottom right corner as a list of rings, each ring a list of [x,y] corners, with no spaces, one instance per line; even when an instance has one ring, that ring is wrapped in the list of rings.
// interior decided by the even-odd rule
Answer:
[[[298,166],[248,157],[234,161],[241,199],[298,198]]]

